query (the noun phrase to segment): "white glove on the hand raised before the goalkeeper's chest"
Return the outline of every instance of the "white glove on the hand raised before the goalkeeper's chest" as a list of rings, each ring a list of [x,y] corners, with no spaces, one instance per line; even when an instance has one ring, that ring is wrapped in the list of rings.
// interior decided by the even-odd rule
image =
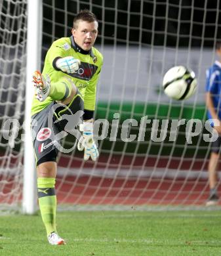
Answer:
[[[80,64],[81,61],[72,56],[58,58],[58,60],[56,60],[56,67],[68,74],[77,72]]]

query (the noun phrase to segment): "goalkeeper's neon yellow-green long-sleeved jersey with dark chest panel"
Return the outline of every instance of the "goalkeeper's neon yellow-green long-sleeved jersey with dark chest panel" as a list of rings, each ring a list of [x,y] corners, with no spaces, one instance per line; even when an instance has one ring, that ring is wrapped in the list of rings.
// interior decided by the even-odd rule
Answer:
[[[57,58],[73,56],[81,60],[79,70],[73,74],[67,74],[58,70],[55,66]],[[62,81],[62,77],[68,76],[83,96],[85,110],[94,110],[96,100],[96,84],[100,76],[100,70],[103,64],[102,54],[94,47],[89,52],[83,51],[77,47],[71,37],[60,38],[52,43],[45,57],[45,66],[43,75],[48,74],[51,83]],[[43,110],[52,102],[53,99],[48,96],[46,100],[40,102],[35,97],[31,106],[31,116]]]

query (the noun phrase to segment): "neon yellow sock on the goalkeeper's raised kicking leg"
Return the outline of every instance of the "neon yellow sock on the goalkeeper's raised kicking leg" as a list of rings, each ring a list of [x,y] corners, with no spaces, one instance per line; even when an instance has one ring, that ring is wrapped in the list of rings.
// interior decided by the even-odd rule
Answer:
[[[72,81],[63,77],[62,80],[50,84],[49,96],[53,100],[65,100],[71,95]]]

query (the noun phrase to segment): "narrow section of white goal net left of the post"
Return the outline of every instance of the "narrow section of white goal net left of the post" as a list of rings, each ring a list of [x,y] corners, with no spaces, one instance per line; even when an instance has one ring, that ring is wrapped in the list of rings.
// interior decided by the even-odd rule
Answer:
[[[22,200],[26,1],[0,1],[0,209]]]

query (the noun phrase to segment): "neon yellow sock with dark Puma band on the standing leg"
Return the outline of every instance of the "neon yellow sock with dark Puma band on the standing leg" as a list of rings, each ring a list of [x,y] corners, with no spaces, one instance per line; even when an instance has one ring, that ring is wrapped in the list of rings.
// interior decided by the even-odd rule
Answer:
[[[54,178],[37,179],[39,207],[43,223],[47,230],[47,235],[51,232],[56,232],[56,195],[54,184]]]

